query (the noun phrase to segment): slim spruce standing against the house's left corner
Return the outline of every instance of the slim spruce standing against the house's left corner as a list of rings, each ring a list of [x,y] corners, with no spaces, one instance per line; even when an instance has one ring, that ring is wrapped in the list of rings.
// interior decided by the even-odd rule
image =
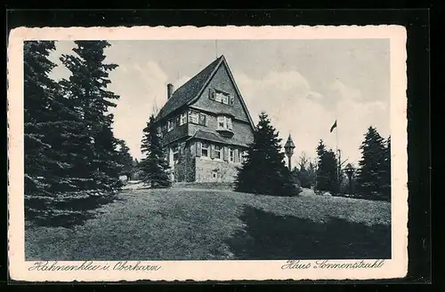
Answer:
[[[155,123],[154,114],[150,115],[147,126],[143,129],[141,151],[145,157],[139,163],[142,171],[142,182],[153,188],[164,188],[172,185],[168,175],[170,166],[162,147],[162,139]]]

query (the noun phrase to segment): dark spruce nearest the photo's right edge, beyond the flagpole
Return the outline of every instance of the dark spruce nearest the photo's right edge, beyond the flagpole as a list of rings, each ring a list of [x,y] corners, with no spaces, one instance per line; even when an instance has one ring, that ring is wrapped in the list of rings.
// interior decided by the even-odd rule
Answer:
[[[369,199],[381,199],[384,197],[382,183],[387,170],[385,170],[384,162],[384,138],[380,136],[376,128],[368,128],[360,150],[361,160],[357,173],[360,193]]]

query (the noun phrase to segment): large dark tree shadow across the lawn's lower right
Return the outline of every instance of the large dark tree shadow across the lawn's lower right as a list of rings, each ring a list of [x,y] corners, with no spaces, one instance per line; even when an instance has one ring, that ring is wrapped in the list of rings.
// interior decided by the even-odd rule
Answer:
[[[332,217],[317,223],[244,207],[245,230],[227,241],[241,260],[391,258],[391,226],[367,226]]]

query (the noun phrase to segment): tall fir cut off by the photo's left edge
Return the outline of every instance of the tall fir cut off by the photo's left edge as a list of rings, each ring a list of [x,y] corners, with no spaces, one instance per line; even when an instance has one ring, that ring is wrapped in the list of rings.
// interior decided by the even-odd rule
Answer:
[[[56,84],[48,77],[54,42],[27,41],[24,53],[24,186],[25,194],[48,194],[47,166],[53,159],[47,143],[48,120]]]

